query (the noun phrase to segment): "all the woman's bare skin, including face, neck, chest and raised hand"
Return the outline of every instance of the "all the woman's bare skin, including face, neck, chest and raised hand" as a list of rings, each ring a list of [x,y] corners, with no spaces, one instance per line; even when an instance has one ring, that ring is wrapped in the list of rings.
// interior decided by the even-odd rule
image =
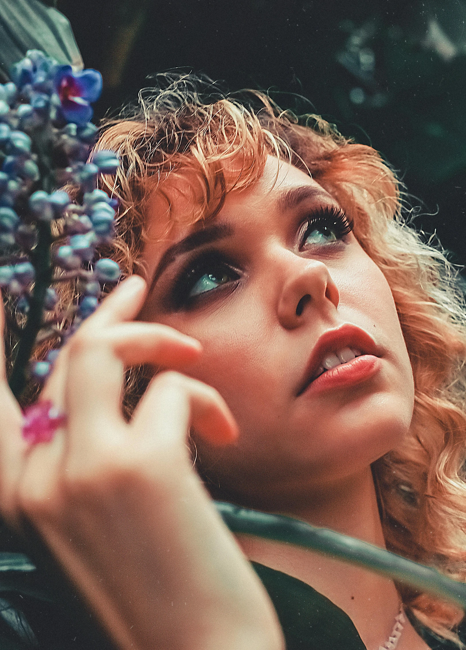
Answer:
[[[300,187],[312,196],[280,209],[278,197]],[[192,209],[184,189],[164,183],[175,217]],[[65,346],[43,391],[68,418],[53,443],[26,445],[0,376],[1,512],[12,526],[31,521],[125,650],[282,650],[275,610],[246,556],[330,597],[369,649],[393,628],[391,581],[302,549],[236,543],[190,453],[211,495],[384,545],[370,463],[406,435],[413,378],[387,282],[354,236],[302,246],[306,220],[332,205],[310,177],[270,158],[262,179],[228,195],[215,217],[235,231],[204,246],[217,266],[226,257],[234,267],[223,268],[218,289],[180,304],[191,253],[149,294],[140,278],[122,283]],[[149,284],[167,248],[201,229],[177,226],[166,236],[168,218],[154,196],[141,259]],[[143,322],[131,322],[136,315]],[[319,337],[344,323],[373,338],[375,374],[298,395]],[[128,424],[123,371],[138,363],[164,371]],[[407,625],[398,648],[426,645]]]

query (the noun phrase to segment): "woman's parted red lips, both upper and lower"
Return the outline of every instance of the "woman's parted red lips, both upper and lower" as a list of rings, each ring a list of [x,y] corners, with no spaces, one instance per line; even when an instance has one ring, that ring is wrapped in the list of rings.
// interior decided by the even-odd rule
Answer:
[[[334,358],[339,350],[357,350],[359,356],[322,372],[325,359]],[[343,387],[360,383],[376,374],[380,369],[380,352],[367,332],[351,324],[344,324],[326,331],[317,341],[300,383],[297,396],[304,391]],[[328,364],[326,364],[328,367]],[[322,374],[320,374],[322,373]]]

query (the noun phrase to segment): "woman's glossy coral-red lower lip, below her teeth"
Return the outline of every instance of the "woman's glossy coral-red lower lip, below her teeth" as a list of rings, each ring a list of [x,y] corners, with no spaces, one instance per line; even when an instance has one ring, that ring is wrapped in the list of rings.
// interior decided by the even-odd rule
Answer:
[[[380,370],[380,363],[379,357],[373,354],[362,354],[352,361],[323,372],[308,385],[304,393],[321,393],[365,382]]]

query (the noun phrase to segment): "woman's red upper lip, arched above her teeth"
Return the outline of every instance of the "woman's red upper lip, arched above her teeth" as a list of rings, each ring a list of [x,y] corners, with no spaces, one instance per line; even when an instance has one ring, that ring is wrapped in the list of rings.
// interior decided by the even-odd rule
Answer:
[[[330,352],[336,354],[342,348],[357,348],[362,354],[380,356],[374,339],[356,325],[345,323],[333,330],[327,330],[319,337],[311,352],[297,395],[300,395],[315,378],[326,354]]]

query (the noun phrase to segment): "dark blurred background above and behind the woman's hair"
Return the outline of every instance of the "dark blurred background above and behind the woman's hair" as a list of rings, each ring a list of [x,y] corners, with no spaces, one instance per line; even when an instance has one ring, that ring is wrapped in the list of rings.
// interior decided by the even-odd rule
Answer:
[[[466,0],[56,0],[84,64],[103,74],[95,117],[188,68],[269,90],[372,144],[466,263]],[[299,98],[298,96],[302,96]]]

